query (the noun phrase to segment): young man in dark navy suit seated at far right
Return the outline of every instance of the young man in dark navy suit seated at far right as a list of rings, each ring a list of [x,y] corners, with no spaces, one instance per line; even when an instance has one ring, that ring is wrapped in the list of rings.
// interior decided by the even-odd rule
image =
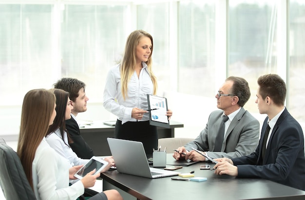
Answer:
[[[305,190],[304,135],[284,106],[286,84],[277,74],[258,78],[258,105],[267,114],[255,152],[240,158],[215,159],[218,175],[257,177]]]

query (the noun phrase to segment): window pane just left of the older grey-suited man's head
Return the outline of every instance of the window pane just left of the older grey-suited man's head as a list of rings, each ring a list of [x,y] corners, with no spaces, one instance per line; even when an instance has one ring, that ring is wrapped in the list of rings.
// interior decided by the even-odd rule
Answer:
[[[178,91],[215,96],[215,5],[184,0],[178,6]]]

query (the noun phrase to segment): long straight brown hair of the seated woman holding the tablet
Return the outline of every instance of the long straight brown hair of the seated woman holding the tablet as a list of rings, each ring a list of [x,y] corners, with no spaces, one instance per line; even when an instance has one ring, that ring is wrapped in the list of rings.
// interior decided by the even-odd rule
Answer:
[[[33,189],[32,163],[36,149],[47,134],[55,95],[45,89],[28,91],[23,99],[17,153]]]

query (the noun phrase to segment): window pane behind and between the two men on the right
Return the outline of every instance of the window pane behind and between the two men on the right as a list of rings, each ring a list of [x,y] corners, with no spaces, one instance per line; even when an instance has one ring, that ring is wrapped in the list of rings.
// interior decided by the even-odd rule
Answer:
[[[228,76],[248,81],[251,97],[245,108],[258,112],[257,78],[277,73],[277,7],[274,0],[248,2],[229,0]]]

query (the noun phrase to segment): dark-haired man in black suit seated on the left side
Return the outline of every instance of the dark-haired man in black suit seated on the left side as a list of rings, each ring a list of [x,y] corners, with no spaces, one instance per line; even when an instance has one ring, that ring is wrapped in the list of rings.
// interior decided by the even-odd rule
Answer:
[[[54,84],[54,88],[69,92],[69,97],[72,101],[72,117],[66,120],[66,129],[73,141],[69,145],[79,158],[90,159],[94,156],[93,150],[80,135],[79,126],[76,122],[77,114],[87,110],[87,101],[89,98],[85,93],[85,83],[76,78],[61,78]]]

